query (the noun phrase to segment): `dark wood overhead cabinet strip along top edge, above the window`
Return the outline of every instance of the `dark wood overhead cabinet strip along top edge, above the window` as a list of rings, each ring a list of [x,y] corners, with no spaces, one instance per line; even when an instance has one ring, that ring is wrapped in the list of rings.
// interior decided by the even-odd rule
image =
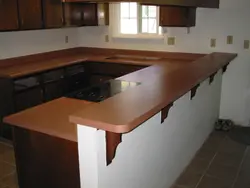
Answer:
[[[128,0],[63,0],[64,2],[128,2]],[[150,5],[219,8],[219,0],[130,0]]]

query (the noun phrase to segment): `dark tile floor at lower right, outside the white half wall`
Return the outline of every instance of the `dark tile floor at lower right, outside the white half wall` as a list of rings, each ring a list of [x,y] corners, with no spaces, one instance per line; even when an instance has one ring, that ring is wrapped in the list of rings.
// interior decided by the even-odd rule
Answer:
[[[250,147],[212,133],[173,188],[250,188]]]

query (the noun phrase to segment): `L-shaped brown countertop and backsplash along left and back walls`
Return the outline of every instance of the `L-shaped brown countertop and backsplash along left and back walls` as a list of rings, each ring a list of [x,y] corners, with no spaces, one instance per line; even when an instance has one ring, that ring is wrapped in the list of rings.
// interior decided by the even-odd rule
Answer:
[[[109,59],[110,57],[116,56],[120,58]],[[125,56],[131,56],[131,58],[124,58]],[[152,60],[142,60],[138,58],[145,56],[151,57]],[[99,48],[72,48],[69,50],[60,50],[0,60],[0,77],[18,78],[80,62],[84,63],[86,61],[150,66],[156,63],[164,62],[191,62],[202,56],[204,56],[204,54],[144,52]],[[154,59],[154,57],[160,58],[157,60]]]

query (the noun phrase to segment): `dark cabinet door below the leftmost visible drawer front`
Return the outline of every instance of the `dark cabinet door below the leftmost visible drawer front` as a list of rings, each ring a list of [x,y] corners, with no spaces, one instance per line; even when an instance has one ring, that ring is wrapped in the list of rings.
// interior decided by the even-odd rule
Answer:
[[[15,111],[19,112],[27,108],[39,105],[43,102],[43,91],[41,87],[34,87],[29,90],[15,94]]]

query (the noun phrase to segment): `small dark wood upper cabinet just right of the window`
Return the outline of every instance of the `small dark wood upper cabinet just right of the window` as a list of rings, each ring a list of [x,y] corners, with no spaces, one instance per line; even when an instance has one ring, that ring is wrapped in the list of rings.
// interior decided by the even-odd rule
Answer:
[[[196,23],[196,8],[160,6],[160,26],[192,27]]]

